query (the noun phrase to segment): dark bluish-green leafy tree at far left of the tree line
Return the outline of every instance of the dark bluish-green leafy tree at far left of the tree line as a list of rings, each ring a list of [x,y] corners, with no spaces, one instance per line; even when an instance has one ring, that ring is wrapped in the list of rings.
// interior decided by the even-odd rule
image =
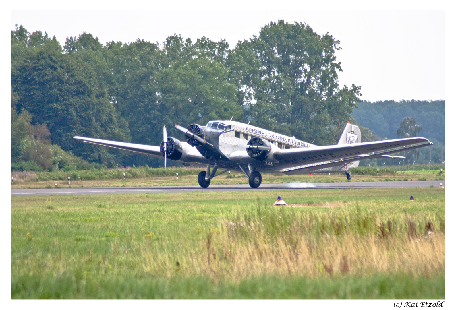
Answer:
[[[103,55],[84,48],[63,54],[56,38],[41,31],[33,32],[23,44],[26,31],[19,27],[13,32],[11,84],[20,98],[17,109],[30,112],[31,124],[44,122],[52,142],[63,150],[109,166],[119,163],[112,151],[73,139],[75,135],[130,139],[128,124],[116,115],[109,100]]]

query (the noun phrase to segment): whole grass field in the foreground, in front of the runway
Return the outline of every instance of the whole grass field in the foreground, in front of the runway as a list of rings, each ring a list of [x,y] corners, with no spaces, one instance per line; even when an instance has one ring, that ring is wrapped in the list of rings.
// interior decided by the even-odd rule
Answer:
[[[444,274],[439,188],[11,197],[12,299],[442,299]]]

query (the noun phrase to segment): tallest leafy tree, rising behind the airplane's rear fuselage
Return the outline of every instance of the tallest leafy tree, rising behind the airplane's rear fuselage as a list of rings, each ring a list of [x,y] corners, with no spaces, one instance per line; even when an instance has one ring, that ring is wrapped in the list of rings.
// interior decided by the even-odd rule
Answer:
[[[241,46],[261,63],[252,79],[256,102],[247,102],[252,124],[317,144],[335,143],[361,96],[360,86],[339,88],[340,42],[304,23],[279,20],[236,48]]]

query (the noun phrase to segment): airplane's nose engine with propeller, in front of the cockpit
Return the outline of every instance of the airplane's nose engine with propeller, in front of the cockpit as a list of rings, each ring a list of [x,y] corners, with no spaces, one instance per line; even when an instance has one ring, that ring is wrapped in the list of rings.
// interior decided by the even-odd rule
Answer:
[[[185,140],[209,160],[229,160],[218,148],[218,138],[224,131],[191,124],[186,128],[176,125],[177,129],[185,133]]]

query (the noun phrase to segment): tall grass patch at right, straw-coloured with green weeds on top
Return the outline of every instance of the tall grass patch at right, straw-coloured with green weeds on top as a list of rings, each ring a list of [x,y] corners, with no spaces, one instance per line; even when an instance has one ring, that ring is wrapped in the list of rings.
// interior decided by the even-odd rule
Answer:
[[[280,217],[279,211],[272,213],[269,216]],[[143,269],[157,276],[209,276],[214,281],[235,282],[264,274],[432,277],[445,271],[444,227],[435,231],[430,221],[419,229],[418,219],[397,219],[394,225],[377,219],[360,229],[329,218],[326,222],[333,226],[327,229],[323,221],[312,224],[311,216],[306,218],[311,224],[305,228],[302,218],[289,217],[285,223],[270,219],[264,213],[235,223],[225,219],[218,229],[202,235],[199,244],[184,245],[178,251],[144,243]],[[369,221],[364,218],[361,222]]]

